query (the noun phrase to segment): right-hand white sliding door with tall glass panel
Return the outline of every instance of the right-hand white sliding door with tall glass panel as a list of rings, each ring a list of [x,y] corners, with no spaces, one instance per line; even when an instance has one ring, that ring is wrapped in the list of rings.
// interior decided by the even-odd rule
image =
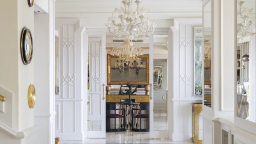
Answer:
[[[156,30],[153,35],[150,36],[149,41],[149,80],[151,86],[150,93],[150,123],[149,123],[149,137],[150,138],[169,138],[171,131],[171,118],[170,118],[170,98],[168,98],[168,29]],[[154,52],[155,51],[155,52]],[[160,54],[159,54],[160,53]],[[161,54],[163,53],[163,55]],[[163,66],[163,75],[154,75],[155,66]],[[159,77],[160,76],[160,77]],[[155,80],[154,80],[155,78]],[[156,80],[157,79],[157,80]],[[161,86],[159,84],[162,84]],[[159,88],[154,90],[154,84]],[[157,87],[157,86],[156,86]]]

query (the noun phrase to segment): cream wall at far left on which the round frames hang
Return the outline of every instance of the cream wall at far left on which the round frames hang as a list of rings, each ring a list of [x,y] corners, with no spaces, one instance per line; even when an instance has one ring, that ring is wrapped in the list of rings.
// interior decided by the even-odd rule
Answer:
[[[36,139],[32,133],[24,135],[27,131],[35,130],[34,109],[30,109],[27,102],[28,87],[30,84],[34,84],[34,58],[28,65],[22,63],[20,37],[22,28],[26,26],[31,30],[32,38],[34,38],[34,10],[24,0],[1,0],[0,16],[1,21],[5,21],[0,24],[1,27],[4,27],[0,35],[0,43],[3,43],[0,48],[0,66],[2,69],[0,72],[0,93],[10,92],[4,106],[8,110],[6,113],[0,112],[1,141],[5,142],[9,139],[9,143],[15,144],[17,142],[15,138],[24,138],[18,143],[26,143],[28,139]],[[11,103],[13,104],[12,107],[10,107]],[[8,118],[5,119],[6,117]],[[5,137],[3,132],[10,134],[12,139]]]

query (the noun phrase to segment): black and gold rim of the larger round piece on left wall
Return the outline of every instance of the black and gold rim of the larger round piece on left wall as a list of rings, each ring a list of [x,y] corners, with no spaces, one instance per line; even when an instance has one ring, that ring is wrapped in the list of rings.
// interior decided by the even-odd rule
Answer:
[[[28,34],[29,40],[30,40],[30,52],[28,59],[26,58],[26,52],[25,52],[25,39]],[[21,59],[23,64],[27,65],[31,62],[33,55],[33,40],[32,40],[32,34],[31,31],[27,27],[23,27],[21,31]]]

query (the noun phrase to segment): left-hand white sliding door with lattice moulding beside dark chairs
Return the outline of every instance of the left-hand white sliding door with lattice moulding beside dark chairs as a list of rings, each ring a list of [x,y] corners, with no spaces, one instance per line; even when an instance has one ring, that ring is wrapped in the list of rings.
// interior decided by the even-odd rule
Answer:
[[[106,137],[106,42],[105,33],[88,32],[87,138]]]

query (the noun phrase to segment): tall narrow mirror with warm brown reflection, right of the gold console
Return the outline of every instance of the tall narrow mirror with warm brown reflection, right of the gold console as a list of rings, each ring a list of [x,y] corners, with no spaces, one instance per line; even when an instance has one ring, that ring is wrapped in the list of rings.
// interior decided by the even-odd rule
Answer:
[[[203,6],[203,80],[204,105],[211,107],[212,102],[212,0]]]

